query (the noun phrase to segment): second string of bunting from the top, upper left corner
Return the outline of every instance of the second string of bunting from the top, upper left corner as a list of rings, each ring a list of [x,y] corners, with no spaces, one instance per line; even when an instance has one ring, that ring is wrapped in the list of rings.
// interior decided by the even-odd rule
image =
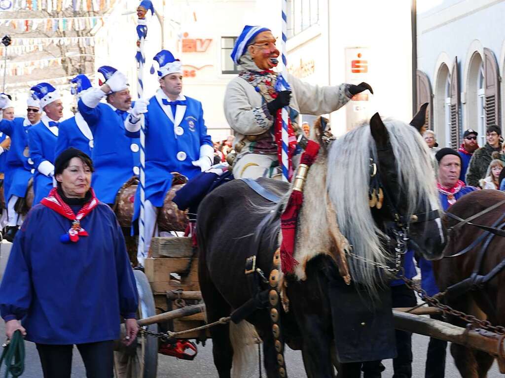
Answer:
[[[2,0],[0,0],[2,3]],[[104,17],[59,17],[32,19],[4,19],[0,20],[0,27],[9,27],[15,32],[39,31],[80,31],[92,29],[96,25],[104,26]]]

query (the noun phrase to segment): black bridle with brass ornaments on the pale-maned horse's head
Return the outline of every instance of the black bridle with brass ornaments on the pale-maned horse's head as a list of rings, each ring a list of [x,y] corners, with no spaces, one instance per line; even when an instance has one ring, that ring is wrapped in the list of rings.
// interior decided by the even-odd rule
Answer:
[[[390,146],[382,149],[377,147],[377,151],[386,151],[389,149],[391,149]],[[373,156],[372,153],[370,155]],[[396,255],[396,264],[398,265],[398,255],[402,255],[407,252],[409,241],[416,245],[416,243],[413,240],[410,240],[409,237],[411,224],[424,223],[439,219],[440,212],[438,209],[435,209],[411,215],[401,214],[401,212],[398,211],[397,203],[395,204],[393,201],[393,196],[391,196],[388,189],[382,184],[380,166],[378,161],[376,162],[373,157],[370,158],[370,183],[368,194],[370,207],[381,209],[385,200],[386,208],[391,216],[391,219],[393,219],[393,222],[386,225],[386,231],[388,233],[390,232],[395,239],[396,246],[394,250]],[[374,198],[374,196],[376,197]]]

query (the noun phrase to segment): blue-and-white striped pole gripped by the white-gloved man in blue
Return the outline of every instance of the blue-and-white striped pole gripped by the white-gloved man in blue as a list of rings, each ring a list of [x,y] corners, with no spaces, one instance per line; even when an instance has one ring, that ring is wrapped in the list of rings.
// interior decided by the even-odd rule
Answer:
[[[145,24],[145,19],[138,20],[137,25],[137,53],[135,55],[135,60],[137,61],[137,97],[142,98],[144,94],[144,40],[147,36],[147,26]],[[139,184],[140,184],[140,216],[138,219],[138,250],[137,253],[138,264],[144,264],[144,259],[147,257],[145,253],[145,123],[144,115],[140,116],[140,172],[139,172]]]

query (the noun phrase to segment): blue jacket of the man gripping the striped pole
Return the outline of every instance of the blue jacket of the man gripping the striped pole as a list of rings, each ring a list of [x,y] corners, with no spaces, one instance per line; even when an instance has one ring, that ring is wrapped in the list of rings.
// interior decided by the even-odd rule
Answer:
[[[167,191],[171,187],[171,172],[178,172],[189,179],[201,172],[191,161],[200,157],[200,146],[212,146],[204,121],[201,102],[185,97],[187,105],[177,105],[175,117],[170,105],[163,105],[165,94],[158,90],[150,98],[145,117],[145,199],[154,206],[163,206]],[[182,96],[182,98],[184,98]],[[175,125],[174,125],[175,123]],[[175,126],[175,127],[174,127]],[[126,132],[134,138],[140,132]],[[136,219],[139,211],[139,190],[135,197]]]

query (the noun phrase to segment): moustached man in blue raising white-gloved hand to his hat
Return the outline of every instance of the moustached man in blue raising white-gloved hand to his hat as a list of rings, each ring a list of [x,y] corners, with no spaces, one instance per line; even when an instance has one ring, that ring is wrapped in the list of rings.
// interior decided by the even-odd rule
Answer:
[[[124,121],[132,105],[126,76],[110,66],[98,72],[105,84],[89,88],[77,105],[93,135],[93,189],[102,202],[113,204],[121,186],[138,175],[140,143],[125,135]],[[106,98],[107,102],[100,102]]]

